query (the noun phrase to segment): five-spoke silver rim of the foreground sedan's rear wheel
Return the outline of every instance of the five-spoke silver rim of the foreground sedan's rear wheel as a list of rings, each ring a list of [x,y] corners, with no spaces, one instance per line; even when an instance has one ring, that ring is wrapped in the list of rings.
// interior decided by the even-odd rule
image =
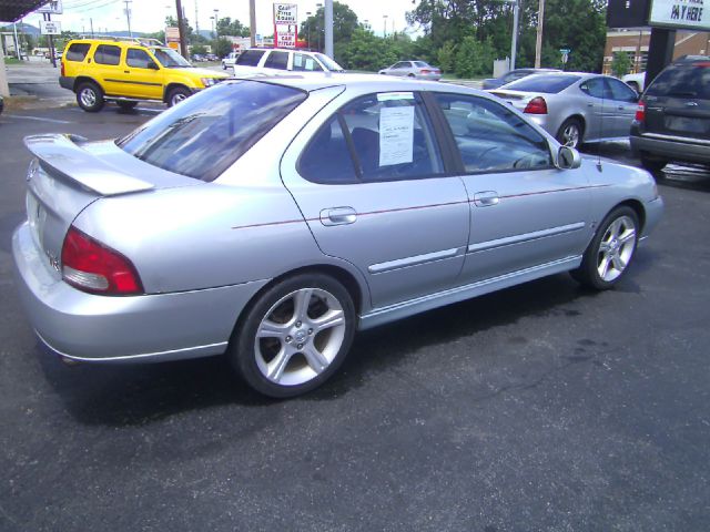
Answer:
[[[256,330],[254,352],[262,375],[282,386],[307,382],[333,362],[346,332],[343,306],[321,288],[282,297]]]

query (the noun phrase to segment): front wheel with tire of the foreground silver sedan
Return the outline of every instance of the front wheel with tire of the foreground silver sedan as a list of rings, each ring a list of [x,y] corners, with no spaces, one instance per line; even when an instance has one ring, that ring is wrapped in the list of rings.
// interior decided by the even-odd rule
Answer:
[[[599,224],[579,268],[570,272],[572,277],[597,290],[611,288],[628,272],[638,233],[639,218],[631,207],[622,205],[611,211]]]

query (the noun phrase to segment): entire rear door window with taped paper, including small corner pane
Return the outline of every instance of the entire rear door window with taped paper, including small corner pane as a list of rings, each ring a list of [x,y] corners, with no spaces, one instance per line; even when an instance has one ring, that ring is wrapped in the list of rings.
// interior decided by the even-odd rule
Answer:
[[[357,183],[432,177],[444,164],[419,95],[396,92],[343,106],[311,140],[298,170],[317,183]]]

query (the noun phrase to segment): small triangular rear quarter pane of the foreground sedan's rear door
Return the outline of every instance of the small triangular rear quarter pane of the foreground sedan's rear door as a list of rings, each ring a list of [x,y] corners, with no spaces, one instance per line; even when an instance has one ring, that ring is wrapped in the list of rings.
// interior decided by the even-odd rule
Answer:
[[[314,183],[358,182],[337,114],[311,140],[298,161],[298,172]]]

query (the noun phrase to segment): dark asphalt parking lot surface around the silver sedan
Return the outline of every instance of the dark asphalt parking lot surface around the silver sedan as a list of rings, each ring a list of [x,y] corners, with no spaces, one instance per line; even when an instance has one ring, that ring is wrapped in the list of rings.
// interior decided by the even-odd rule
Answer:
[[[374,329],[274,401],[219,358],[64,366],[19,307],[22,137],[161,109],[0,115],[0,530],[708,530],[709,174],[658,175],[665,219],[615,290],[558,275]]]

